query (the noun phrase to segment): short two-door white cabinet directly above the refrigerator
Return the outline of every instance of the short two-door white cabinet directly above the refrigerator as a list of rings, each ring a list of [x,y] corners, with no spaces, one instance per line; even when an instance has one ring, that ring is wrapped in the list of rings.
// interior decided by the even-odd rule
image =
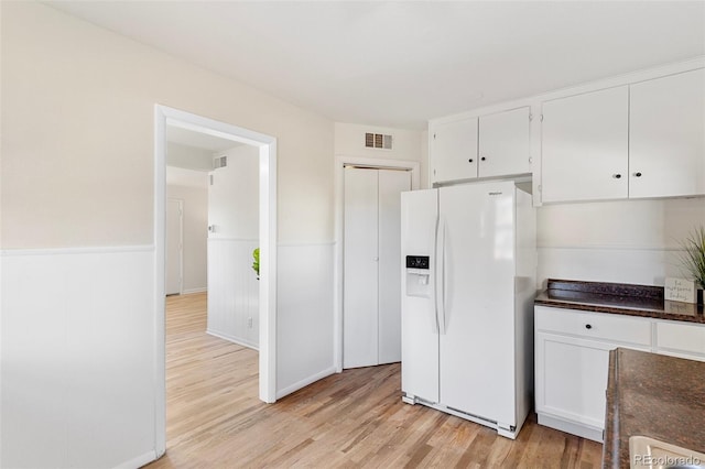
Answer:
[[[432,182],[531,173],[529,124],[529,107],[435,124]]]

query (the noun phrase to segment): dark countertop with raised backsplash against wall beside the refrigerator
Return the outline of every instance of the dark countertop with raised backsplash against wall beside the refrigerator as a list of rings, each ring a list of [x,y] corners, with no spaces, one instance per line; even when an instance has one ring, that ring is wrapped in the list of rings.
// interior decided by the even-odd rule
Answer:
[[[705,324],[703,305],[665,301],[661,286],[550,279],[534,304]]]

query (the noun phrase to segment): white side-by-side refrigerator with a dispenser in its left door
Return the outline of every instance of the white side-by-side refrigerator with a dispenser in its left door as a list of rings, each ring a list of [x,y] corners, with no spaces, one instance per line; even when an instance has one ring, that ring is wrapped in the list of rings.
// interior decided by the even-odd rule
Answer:
[[[531,195],[473,183],[402,193],[401,210],[402,399],[513,439],[533,401]]]

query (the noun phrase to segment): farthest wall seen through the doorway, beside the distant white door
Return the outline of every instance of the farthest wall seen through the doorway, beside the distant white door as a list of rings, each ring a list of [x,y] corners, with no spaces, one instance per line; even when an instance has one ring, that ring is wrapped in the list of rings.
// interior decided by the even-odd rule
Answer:
[[[166,167],[166,197],[184,201],[183,293],[203,292],[208,287],[208,173]],[[174,176],[174,173],[178,177]]]

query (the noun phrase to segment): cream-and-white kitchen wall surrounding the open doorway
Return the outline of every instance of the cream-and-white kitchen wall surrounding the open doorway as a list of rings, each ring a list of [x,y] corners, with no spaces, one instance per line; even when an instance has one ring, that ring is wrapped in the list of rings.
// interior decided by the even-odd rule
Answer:
[[[155,455],[162,326],[144,277],[162,216],[153,212],[155,103],[278,139],[278,394],[330,372],[333,122],[50,6],[0,9],[0,466],[135,467]],[[152,250],[148,260],[119,255],[138,248]],[[116,261],[86,265],[91,249]],[[303,260],[305,279],[288,264]],[[56,307],[36,306],[52,297],[36,292],[56,292]],[[56,334],[64,338],[44,340]],[[86,405],[37,412],[45,391],[75,385]]]

